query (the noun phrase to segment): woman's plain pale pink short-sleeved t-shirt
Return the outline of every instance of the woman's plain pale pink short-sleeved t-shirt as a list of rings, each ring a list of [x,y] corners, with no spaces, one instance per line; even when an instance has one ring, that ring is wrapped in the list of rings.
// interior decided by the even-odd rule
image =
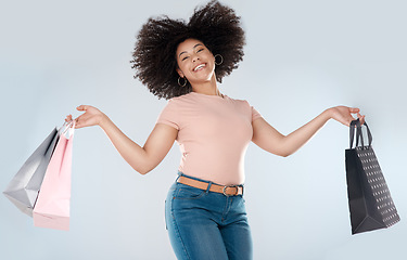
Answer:
[[[178,130],[179,171],[231,185],[244,182],[244,154],[259,117],[247,101],[191,92],[170,99],[156,122]]]

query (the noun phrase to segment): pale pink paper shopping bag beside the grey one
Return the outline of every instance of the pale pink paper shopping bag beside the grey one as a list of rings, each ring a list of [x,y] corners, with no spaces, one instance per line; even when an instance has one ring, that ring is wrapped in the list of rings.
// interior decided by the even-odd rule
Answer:
[[[65,136],[65,133],[61,134],[34,206],[35,226],[69,230],[72,145],[75,126],[67,126],[66,130],[68,136]]]

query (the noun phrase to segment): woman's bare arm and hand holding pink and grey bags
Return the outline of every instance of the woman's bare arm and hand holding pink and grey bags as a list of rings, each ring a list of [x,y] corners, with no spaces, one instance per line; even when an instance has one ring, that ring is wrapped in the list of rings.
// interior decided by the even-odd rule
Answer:
[[[178,130],[157,123],[143,147],[131,141],[102,112],[92,106],[78,106],[85,114],[76,118],[76,128],[99,125],[107,134],[122,157],[139,173],[145,174],[154,169],[167,155],[177,138]],[[66,120],[72,119],[68,116]]]

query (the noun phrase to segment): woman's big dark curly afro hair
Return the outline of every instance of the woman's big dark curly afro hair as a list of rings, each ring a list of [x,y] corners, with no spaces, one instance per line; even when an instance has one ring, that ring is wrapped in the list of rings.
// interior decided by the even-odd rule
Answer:
[[[135,78],[158,99],[168,100],[192,91],[189,82],[186,87],[178,84],[176,72],[177,47],[190,38],[202,41],[214,55],[222,55],[224,62],[215,67],[219,82],[243,60],[245,40],[240,17],[216,0],[195,9],[188,23],[168,16],[151,17],[137,36],[130,63],[136,69]]]

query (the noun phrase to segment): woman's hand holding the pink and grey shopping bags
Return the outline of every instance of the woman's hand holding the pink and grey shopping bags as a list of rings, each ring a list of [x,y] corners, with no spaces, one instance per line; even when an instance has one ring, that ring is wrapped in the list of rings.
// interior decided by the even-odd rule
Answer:
[[[102,122],[102,120],[106,117],[101,110],[93,106],[89,105],[80,105],[76,107],[77,110],[85,112],[82,115],[75,118],[75,128],[84,128],[84,127],[91,127],[97,126]],[[65,121],[71,121],[72,115],[66,116]]]

